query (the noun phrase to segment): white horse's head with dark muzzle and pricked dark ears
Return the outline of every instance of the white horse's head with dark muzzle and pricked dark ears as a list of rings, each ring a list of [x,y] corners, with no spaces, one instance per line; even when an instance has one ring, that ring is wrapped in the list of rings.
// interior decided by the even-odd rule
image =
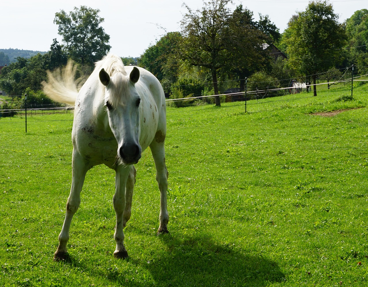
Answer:
[[[122,164],[136,164],[142,153],[139,145],[141,98],[135,88],[139,70],[134,67],[129,76],[119,72],[110,77],[102,69],[99,77],[106,87],[105,105],[109,125],[118,144],[118,158]]]

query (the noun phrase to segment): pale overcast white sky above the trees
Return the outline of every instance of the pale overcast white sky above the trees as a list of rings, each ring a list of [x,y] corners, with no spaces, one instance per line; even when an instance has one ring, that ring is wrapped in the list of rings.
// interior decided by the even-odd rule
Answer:
[[[202,0],[9,0],[1,1],[0,49],[23,49],[48,51],[52,40],[61,37],[57,25],[53,24],[55,13],[64,10],[69,13],[82,5],[99,9],[99,16],[105,18],[102,27],[110,35],[111,52],[121,57],[138,57],[166,32],[180,31],[180,20],[186,9],[185,2],[192,10],[201,8]],[[332,0],[334,11],[340,22],[350,18],[355,11],[368,9],[367,0]],[[308,1],[292,0],[234,0],[229,6],[233,10],[243,4],[253,11],[255,20],[258,13],[269,18],[283,32],[287,22],[296,11],[304,11]],[[163,27],[163,28],[160,28]]]

